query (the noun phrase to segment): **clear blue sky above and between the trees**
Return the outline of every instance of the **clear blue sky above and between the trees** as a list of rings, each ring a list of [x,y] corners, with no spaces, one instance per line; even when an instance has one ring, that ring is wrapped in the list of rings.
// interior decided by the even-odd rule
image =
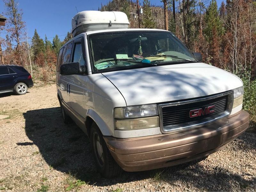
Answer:
[[[45,34],[52,42],[55,35],[60,40],[65,38],[68,31],[71,31],[71,19],[77,11],[98,10],[100,4],[107,4],[109,0],[16,0],[18,8],[23,11],[23,21],[26,22],[28,37],[32,38],[35,29],[41,38]],[[210,0],[204,0],[206,4]],[[142,4],[143,0],[140,0]],[[162,5],[161,0],[151,0],[153,5]],[[221,0],[217,0],[220,6]],[[208,3],[209,4],[209,3]],[[0,0],[0,13],[4,15],[5,8],[3,0]],[[5,16],[5,15],[4,15]],[[1,31],[0,36],[5,37],[6,31]]]

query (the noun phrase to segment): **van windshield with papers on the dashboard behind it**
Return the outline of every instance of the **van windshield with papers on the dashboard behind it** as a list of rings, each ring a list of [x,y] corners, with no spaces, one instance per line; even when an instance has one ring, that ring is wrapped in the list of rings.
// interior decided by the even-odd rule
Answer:
[[[88,36],[96,73],[196,62],[180,40],[165,31],[120,31]]]

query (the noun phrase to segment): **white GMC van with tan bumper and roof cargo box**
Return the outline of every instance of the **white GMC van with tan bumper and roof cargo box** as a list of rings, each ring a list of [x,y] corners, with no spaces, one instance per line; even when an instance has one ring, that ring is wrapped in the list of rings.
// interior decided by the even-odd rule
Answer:
[[[64,122],[89,136],[103,176],[207,157],[247,129],[238,77],[169,31],[128,24],[122,12],[76,14],[57,62]]]

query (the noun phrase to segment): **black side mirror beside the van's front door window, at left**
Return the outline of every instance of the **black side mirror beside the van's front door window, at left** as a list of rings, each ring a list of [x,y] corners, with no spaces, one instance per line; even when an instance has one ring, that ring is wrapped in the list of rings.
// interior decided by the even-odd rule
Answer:
[[[60,74],[61,75],[75,75],[75,74],[84,74],[85,66],[80,66],[79,63],[66,63],[60,65]]]

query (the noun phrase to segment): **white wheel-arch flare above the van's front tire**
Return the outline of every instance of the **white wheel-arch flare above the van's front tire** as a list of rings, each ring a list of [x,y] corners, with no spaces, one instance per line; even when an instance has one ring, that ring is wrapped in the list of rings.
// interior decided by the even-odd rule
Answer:
[[[113,129],[113,133],[111,133],[109,130],[112,130],[111,128],[109,129],[107,124],[105,123],[105,121],[103,119],[101,119],[101,117],[98,115],[98,113],[96,113],[95,111],[93,111],[92,109],[89,109],[86,113],[86,117],[90,117],[92,118],[92,120],[97,124],[97,126],[100,128],[101,133],[104,136],[114,136],[114,129]],[[86,119],[85,117],[85,119]]]

